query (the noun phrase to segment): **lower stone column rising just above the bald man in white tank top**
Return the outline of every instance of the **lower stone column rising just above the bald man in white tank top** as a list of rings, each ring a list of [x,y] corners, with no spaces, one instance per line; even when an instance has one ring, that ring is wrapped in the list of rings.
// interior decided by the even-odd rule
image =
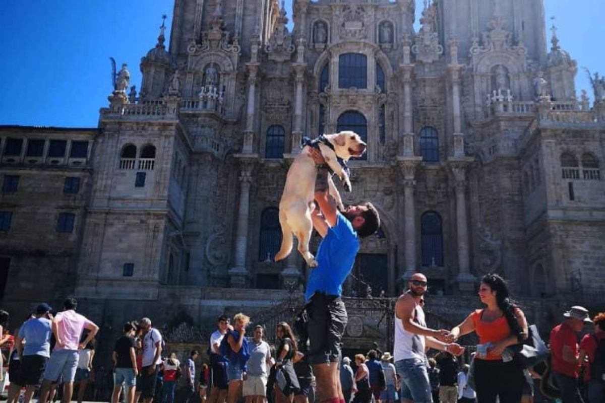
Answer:
[[[422,157],[398,158],[399,169],[404,179],[404,243],[405,243],[405,272],[403,280],[409,279],[416,272],[416,207],[414,202],[414,187],[416,167]]]

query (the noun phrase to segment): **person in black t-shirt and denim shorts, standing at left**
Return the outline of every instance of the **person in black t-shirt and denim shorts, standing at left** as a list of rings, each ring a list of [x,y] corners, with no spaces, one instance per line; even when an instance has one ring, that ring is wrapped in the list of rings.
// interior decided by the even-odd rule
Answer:
[[[116,341],[113,353],[114,388],[111,394],[111,403],[117,403],[120,392],[124,390],[126,403],[134,403],[137,390],[136,341],[134,340],[134,326],[127,322],[122,328],[122,336]]]

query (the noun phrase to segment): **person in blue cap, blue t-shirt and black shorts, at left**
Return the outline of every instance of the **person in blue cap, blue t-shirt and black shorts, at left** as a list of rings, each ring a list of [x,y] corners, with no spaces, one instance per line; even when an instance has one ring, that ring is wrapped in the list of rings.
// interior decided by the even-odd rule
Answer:
[[[25,321],[19,329],[15,346],[21,359],[16,379],[11,379],[8,402],[12,402],[25,386],[24,403],[31,401],[36,387],[41,384],[42,373],[50,357],[51,320],[50,305],[42,303],[36,308],[36,317]],[[22,341],[27,343],[22,343]]]

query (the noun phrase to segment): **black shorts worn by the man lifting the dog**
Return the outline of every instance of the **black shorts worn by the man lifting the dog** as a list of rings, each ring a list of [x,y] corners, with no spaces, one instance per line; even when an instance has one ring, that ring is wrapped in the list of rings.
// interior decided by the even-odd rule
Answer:
[[[347,326],[347,309],[337,295],[316,292],[306,306],[309,323],[309,364],[338,363]]]

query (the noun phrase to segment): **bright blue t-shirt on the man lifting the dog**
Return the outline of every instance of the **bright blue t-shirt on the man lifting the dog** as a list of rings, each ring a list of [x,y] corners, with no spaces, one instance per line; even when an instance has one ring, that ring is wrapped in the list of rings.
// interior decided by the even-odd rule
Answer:
[[[342,283],[355,263],[359,251],[359,239],[353,225],[341,213],[336,214],[336,225],[328,230],[319,243],[315,259],[318,266],[311,269],[304,294],[308,302],[315,292],[327,295],[342,294]]]

